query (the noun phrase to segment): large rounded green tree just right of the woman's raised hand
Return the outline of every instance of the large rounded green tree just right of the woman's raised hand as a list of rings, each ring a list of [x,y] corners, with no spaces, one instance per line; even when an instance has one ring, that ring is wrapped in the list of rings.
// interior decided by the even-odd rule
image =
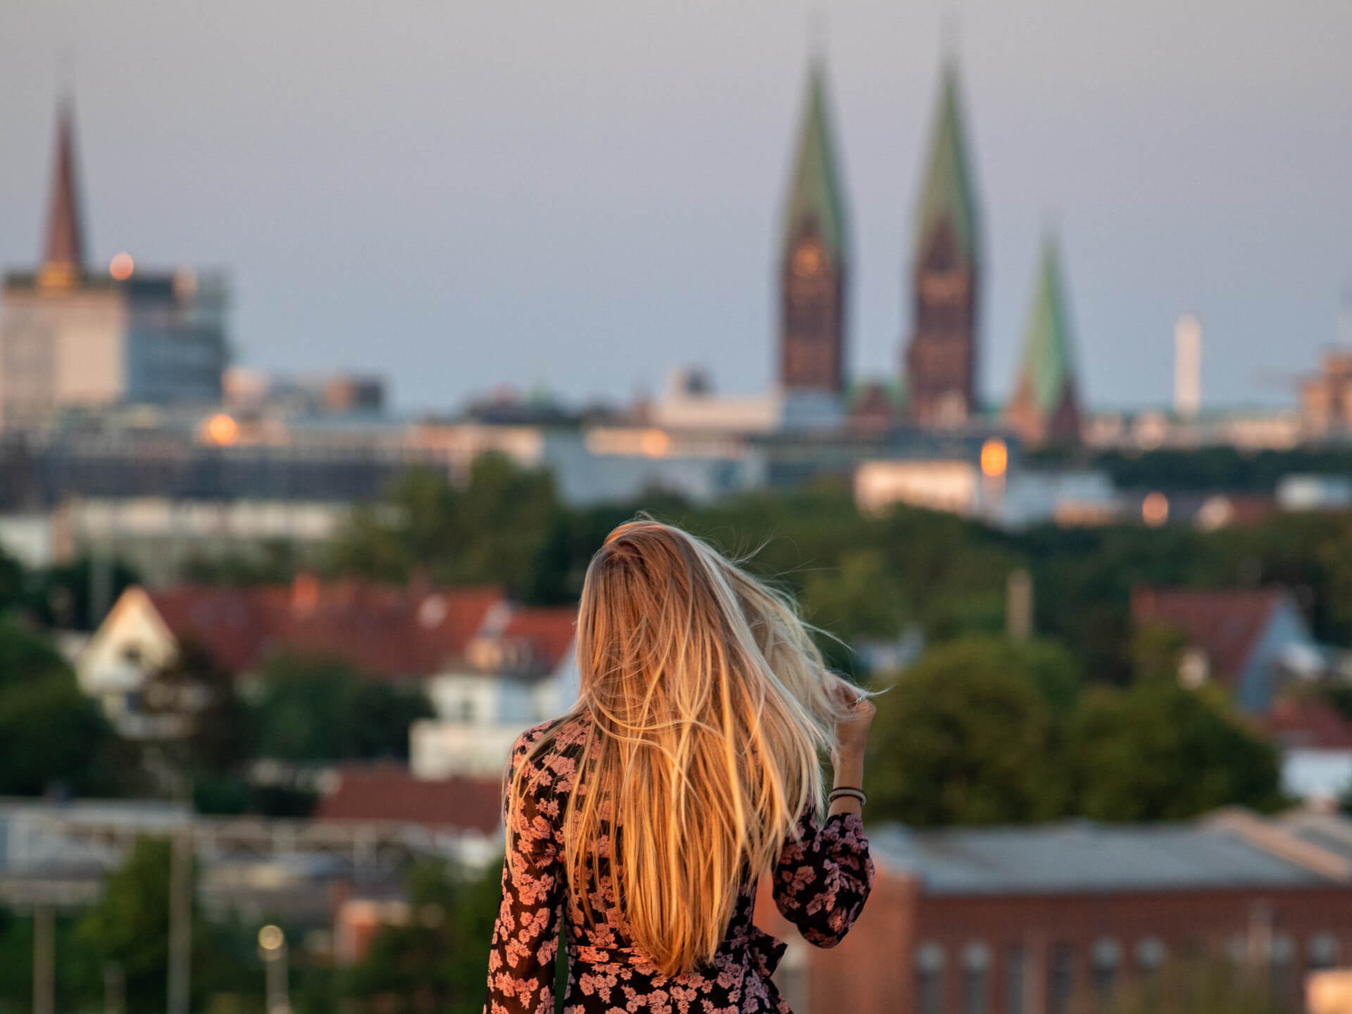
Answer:
[[[1053,649],[998,638],[932,648],[875,699],[867,788],[873,818],[918,826],[1023,823],[1065,803]],[[1059,704],[1060,706],[1060,704]]]

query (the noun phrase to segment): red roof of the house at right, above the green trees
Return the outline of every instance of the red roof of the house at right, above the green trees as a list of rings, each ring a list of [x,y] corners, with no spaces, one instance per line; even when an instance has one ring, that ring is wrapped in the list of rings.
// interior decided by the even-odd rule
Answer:
[[[1282,588],[1148,588],[1132,592],[1132,622],[1167,623],[1206,652],[1213,676],[1230,685],[1244,668],[1272,611],[1286,599]]]

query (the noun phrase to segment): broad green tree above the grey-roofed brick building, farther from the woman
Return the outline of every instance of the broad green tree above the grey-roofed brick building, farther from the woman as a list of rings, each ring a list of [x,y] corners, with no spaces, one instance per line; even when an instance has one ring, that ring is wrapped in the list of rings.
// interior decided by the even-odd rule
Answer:
[[[1276,750],[1224,702],[1176,683],[1087,691],[1067,761],[1076,811],[1096,821],[1180,821],[1282,800]]]

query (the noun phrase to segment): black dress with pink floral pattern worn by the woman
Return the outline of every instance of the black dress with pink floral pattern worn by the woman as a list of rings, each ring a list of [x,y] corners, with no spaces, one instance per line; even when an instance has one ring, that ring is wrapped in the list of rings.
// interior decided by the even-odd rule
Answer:
[[[565,721],[553,746],[531,761],[535,788],[521,807],[515,844],[503,863],[484,1014],[553,1014],[558,921],[565,907],[566,1014],[791,1014],[771,982],[784,944],[752,925],[754,877],[742,884],[713,961],[680,976],[658,973],[627,938],[608,876],[589,886],[591,922],[568,896],[560,818],[587,729],[585,719]],[[516,740],[512,772],[550,725]],[[837,814],[818,822],[811,807],[804,811],[796,841],[784,845],[773,871],[775,903],[784,917],[810,942],[834,946],[859,917],[872,886],[873,864],[860,817]]]

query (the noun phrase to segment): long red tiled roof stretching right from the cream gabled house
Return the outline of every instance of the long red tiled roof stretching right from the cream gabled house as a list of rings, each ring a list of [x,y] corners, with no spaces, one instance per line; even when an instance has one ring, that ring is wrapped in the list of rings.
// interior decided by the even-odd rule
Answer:
[[[291,587],[178,585],[149,591],[180,639],[203,645],[228,671],[245,672],[274,652],[335,656],[384,679],[437,672],[484,626],[498,588],[322,583]]]

